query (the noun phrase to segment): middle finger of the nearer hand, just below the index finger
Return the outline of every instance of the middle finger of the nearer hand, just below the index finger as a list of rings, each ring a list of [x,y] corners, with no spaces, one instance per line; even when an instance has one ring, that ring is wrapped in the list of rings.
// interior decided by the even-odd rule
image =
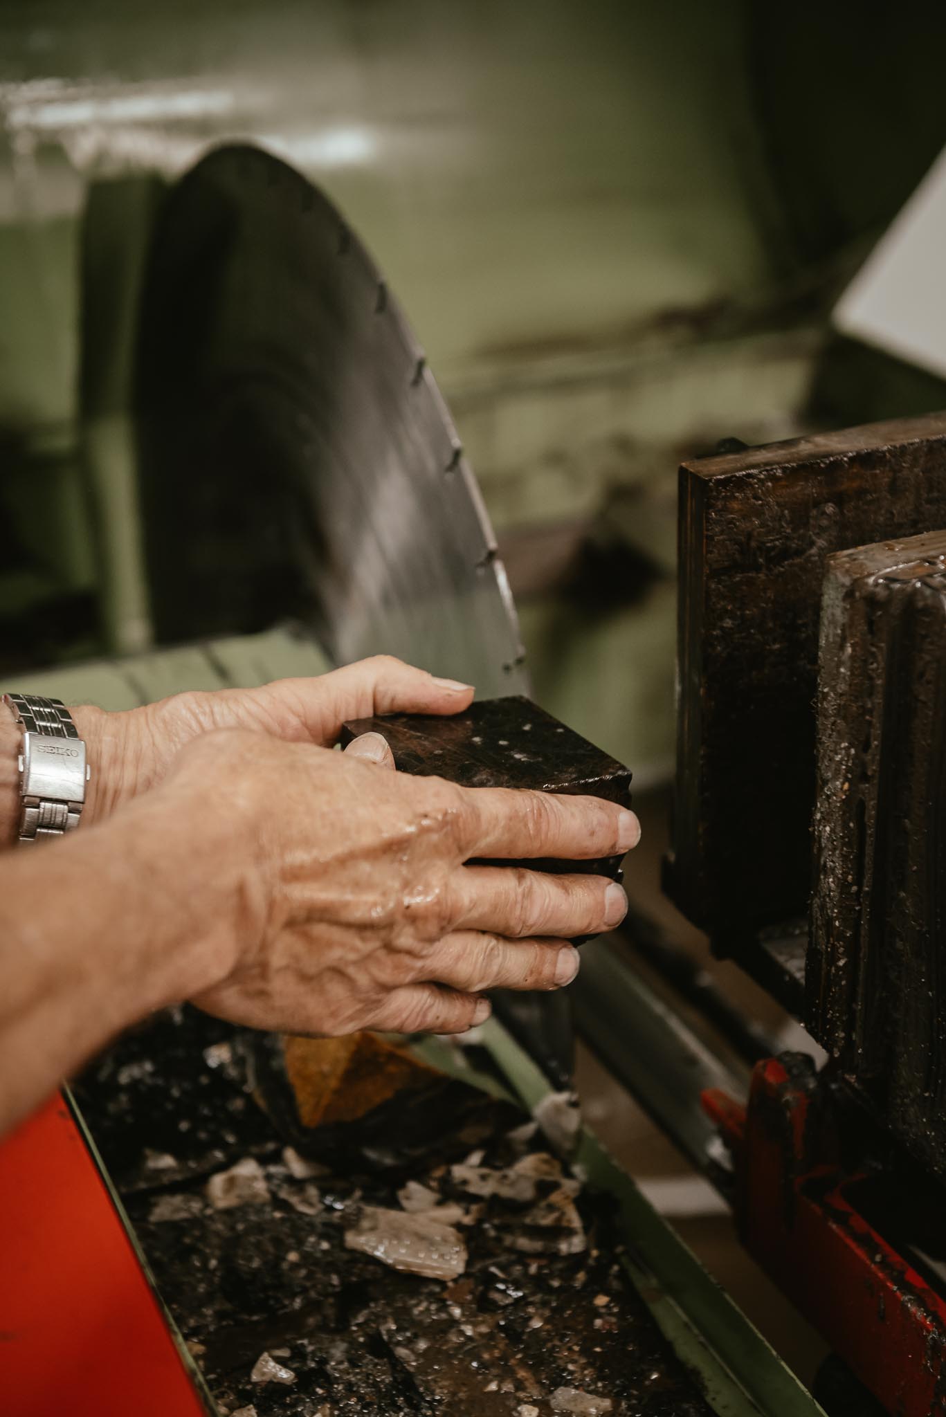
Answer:
[[[461,866],[451,877],[454,928],[512,939],[597,935],[627,914],[627,896],[606,876],[553,876],[519,866]]]

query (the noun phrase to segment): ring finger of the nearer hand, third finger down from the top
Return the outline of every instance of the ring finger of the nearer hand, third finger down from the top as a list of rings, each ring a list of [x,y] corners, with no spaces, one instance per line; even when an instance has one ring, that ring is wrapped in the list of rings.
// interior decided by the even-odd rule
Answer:
[[[438,941],[420,965],[424,979],[462,993],[560,989],[579,972],[579,952],[560,939],[505,939],[461,930]]]

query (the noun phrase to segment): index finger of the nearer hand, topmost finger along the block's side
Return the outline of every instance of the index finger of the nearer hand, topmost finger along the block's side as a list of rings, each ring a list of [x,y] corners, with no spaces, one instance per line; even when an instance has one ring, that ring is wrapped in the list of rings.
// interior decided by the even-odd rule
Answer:
[[[468,856],[515,860],[552,856],[583,862],[596,856],[623,856],[641,837],[634,812],[601,798],[465,788],[464,806]]]

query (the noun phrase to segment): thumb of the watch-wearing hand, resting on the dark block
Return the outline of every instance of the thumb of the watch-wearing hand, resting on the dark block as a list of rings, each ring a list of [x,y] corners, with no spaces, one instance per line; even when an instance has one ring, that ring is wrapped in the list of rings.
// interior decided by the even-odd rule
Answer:
[[[274,717],[288,716],[301,737],[328,747],[338,741],[349,718],[458,713],[469,706],[474,689],[455,679],[435,679],[390,655],[376,655],[315,679],[281,679],[252,693]]]

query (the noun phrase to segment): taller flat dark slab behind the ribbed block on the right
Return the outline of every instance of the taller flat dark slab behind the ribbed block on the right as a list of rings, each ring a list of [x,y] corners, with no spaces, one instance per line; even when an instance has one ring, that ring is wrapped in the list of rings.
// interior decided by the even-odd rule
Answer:
[[[827,557],[946,526],[946,414],[684,463],[667,888],[723,949],[807,911]]]

